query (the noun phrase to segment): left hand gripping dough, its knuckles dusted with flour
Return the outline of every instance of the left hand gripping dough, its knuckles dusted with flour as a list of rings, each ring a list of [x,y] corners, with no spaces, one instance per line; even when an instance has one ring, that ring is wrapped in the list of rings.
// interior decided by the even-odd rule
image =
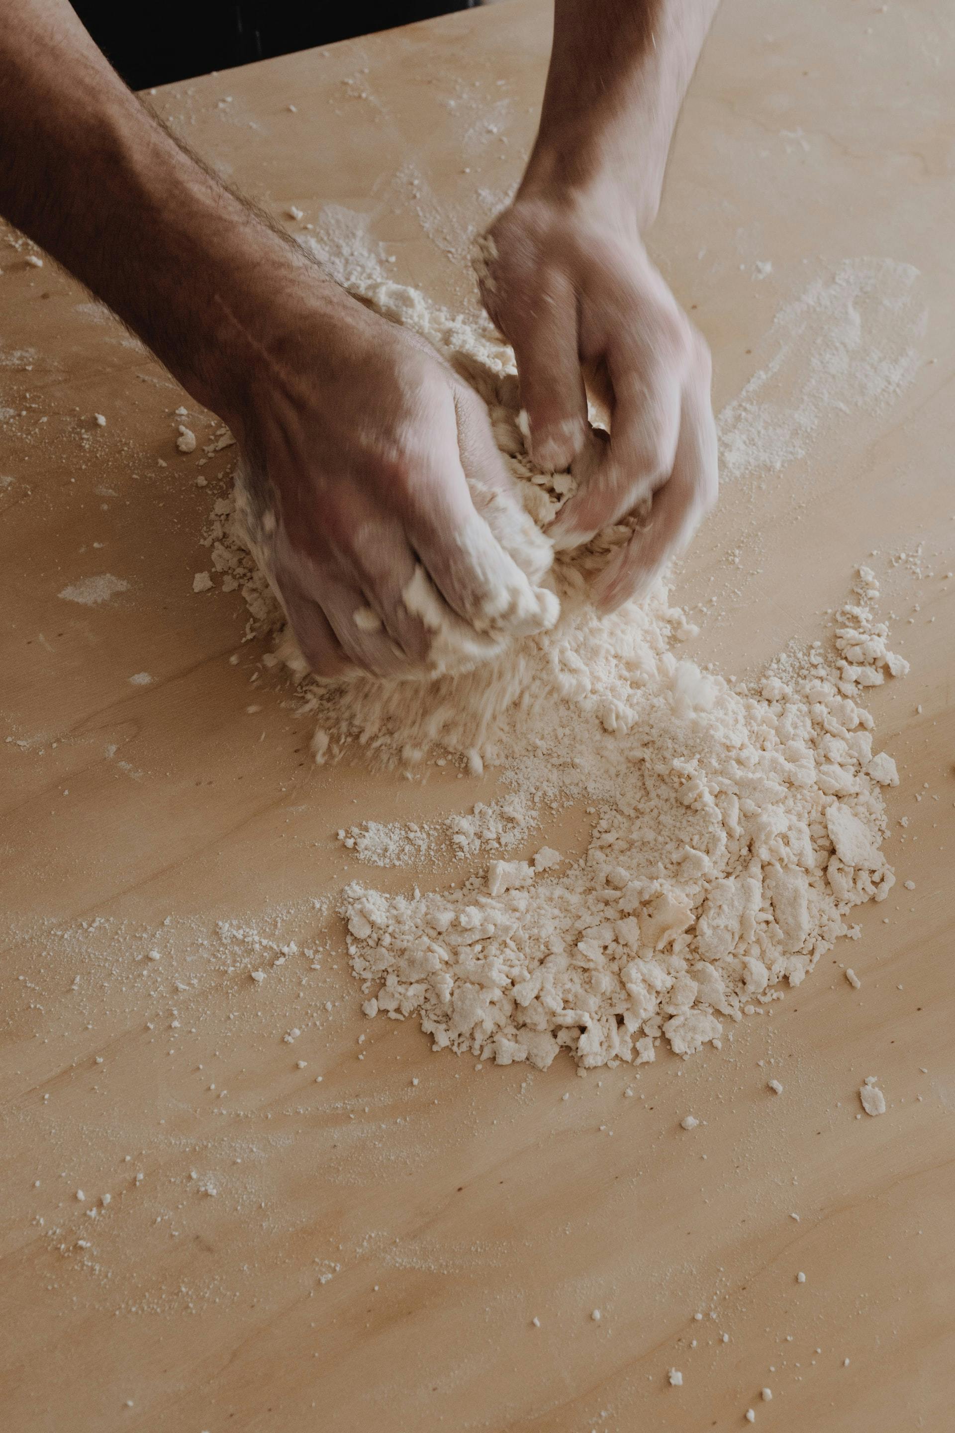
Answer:
[[[440,674],[553,625],[550,545],[484,404],[424,340],[309,267],[256,341],[229,421],[256,556],[314,672]]]

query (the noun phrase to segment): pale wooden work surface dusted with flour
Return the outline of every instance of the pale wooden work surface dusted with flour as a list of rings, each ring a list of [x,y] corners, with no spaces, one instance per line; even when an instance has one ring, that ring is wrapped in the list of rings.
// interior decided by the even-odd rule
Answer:
[[[395,275],[461,308],[547,49],[547,7],[514,0],[156,105],[296,231],[368,215]],[[192,592],[232,453],[199,470],[173,410],[200,446],[212,417],[0,246],[4,1430],[697,1433],[749,1407],[787,1433],[952,1427],[954,73],[942,3],[735,0],[686,106],[651,248],[713,347],[717,411],[770,365],[777,414],[815,384],[803,456],[727,483],[677,582],[696,651],[739,674],[822,636],[871,560],[912,674],[871,704],[902,772],[898,898],[722,1053],[639,1076],[477,1072],[365,1020],[312,904],[369,874],[335,830],[493,781],[314,767],[238,595]],[[918,360],[881,408],[820,380],[819,302],[773,328],[863,258],[891,262],[840,310],[852,361],[879,358],[873,332]],[[126,589],[59,596],[103,573]],[[249,931],[299,947],[262,984]],[[881,1119],[858,1113],[869,1073]]]

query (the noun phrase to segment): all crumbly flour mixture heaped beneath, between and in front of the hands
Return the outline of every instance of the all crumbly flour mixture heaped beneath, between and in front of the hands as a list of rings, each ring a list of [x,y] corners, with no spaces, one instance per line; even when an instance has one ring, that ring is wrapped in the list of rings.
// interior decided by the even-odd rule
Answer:
[[[535,473],[525,457],[510,350],[379,275],[374,265],[339,274],[478,388],[525,509],[544,526],[573,479]],[[235,555],[229,503],[216,509],[212,565],[245,583],[253,616],[266,616],[262,580]],[[680,659],[696,629],[663,588],[596,616],[587,573],[626,536],[604,533],[573,560],[557,553],[557,625],[470,674],[318,684],[288,638],[279,646],[305,679],[316,759],[351,742],[392,765],[450,755],[471,771],[500,767],[510,788],[431,827],[339,833],[367,860],[420,860],[435,840],[464,856],[501,853],[527,838],[543,805],[588,802],[593,830],[577,861],[544,847],[531,860],[493,860],[448,891],[348,888],[365,1012],[418,1017],[435,1049],[546,1068],[561,1046],[598,1066],[651,1060],[661,1037],[679,1055],[719,1045],[727,1020],[799,984],[849,930],[849,913],[893,884],[881,785],[898,777],[873,752],[856,696],[906,663],[876,620],[873,575],[859,572],[832,653],[815,646],[802,666],[789,659],[733,688]]]

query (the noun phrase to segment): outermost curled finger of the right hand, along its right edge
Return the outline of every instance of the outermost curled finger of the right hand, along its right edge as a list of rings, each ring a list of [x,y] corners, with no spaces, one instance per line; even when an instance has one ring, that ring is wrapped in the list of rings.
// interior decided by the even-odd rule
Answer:
[[[716,502],[719,486],[716,423],[709,384],[687,387],[673,473],[653,496],[650,520],[604,567],[593,586],[594,603],[613,612],[644,596],[667,562],[693,537]]]

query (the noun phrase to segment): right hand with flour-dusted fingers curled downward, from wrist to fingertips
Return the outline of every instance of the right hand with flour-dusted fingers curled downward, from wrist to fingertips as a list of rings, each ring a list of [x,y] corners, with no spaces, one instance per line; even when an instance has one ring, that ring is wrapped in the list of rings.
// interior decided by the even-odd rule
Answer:
[[[601,459],[548,536],[577,546],[651,497],[649,522],[594,583],[604,610],[653,585],[717,490],[709,350],[614,209],[606,195],[518,196],[481,265],[484,304],[517,355],[534,461],[563,470],[590,457],[587,387],[610,414]]]

